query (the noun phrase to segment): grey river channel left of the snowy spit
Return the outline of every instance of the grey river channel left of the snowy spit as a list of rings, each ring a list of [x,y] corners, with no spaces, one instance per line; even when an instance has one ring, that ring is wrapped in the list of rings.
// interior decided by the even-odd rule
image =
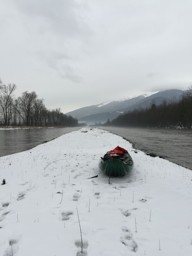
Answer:
[[[22,152],[80,127],[0,130],[0,156]]]

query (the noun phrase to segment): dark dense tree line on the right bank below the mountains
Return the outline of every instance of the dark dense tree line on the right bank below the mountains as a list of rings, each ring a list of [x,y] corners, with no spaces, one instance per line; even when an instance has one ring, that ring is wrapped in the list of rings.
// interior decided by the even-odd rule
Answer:
[[[163,100],[156,106],[155,101],[149,108],[139,108],[117,116],[105,124],[113,126],[144,126],[158,128],[192,128],[192,86],[178,101]]]

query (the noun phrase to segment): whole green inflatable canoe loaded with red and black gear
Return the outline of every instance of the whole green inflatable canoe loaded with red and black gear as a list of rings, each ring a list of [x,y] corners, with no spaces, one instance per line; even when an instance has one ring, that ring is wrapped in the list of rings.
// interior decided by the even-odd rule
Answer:
[[[124,176],[132,167],[132,157],[126,149],[119,146],[108,151],[99,162],[99,168],[110,176]]]

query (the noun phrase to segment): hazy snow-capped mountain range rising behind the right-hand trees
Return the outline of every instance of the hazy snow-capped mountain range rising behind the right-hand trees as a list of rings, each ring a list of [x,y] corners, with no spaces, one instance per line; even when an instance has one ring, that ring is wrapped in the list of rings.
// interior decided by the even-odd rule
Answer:
[[[79,121],[87,124],[106,122],[108,119],[112,120],[126,111],[139,107],[146,108],[150,106],[152,101],[159,105],[163,100],[178,100],[182,93],[183,91],[176,89],[145,93],[132,98],[106,101],[97,105],[79,108],[66,114],[77,117]]]

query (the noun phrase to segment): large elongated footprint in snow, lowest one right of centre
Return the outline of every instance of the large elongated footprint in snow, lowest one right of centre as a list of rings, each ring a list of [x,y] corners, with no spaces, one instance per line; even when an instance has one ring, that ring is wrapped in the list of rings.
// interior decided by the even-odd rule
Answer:
[[[133,240],[133,235],[126,227],[122,228],[121,243],[124,244],[131,252],[137,252],[138,246]]]

